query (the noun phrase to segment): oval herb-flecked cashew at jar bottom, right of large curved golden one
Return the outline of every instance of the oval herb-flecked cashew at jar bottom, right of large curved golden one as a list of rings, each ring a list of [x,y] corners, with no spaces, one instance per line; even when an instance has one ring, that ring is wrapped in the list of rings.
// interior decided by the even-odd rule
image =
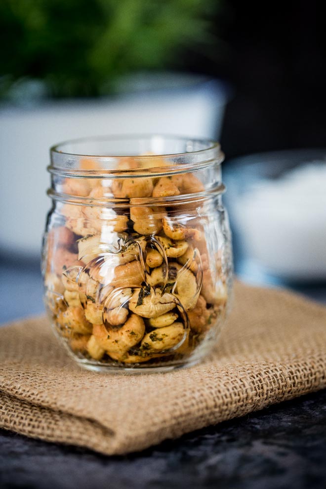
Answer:
[[[170,326],[154,329],[150,333],[145,334],[140,349],[156,352],[170,350],[180,343],[184,334],[185,330],[182,323],[173,323]]]

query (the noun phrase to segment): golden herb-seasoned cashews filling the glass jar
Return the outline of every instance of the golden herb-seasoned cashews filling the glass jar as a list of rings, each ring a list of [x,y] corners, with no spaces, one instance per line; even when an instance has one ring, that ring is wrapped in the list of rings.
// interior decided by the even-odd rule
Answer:
[[[119,169],[146,164],[122,158]],[[60,204],[50,217],[45,300],[75,355],[100,364],[173,362],[216,327],[226,278],[220,254],[207,250],[196,204],[153,204],[203,190],[192,173],[62,182],[63,195],[85,202]],[[128,205],[103,204],[108,198]]]

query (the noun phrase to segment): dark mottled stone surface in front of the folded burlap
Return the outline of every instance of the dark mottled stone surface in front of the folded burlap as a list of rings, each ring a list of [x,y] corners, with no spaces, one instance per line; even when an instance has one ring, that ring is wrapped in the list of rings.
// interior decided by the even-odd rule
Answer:
[[[0,488],[325,489],[326,391],[125,457],[0,431]]]

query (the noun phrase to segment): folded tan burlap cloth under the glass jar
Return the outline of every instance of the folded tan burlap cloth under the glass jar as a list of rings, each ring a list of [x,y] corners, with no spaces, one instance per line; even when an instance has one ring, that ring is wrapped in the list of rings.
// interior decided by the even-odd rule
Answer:
[[[323,387],[326,308],[286,291],[236,284],[213,356],[164,374],[82,370],[43,317],[0,328],[0,426],[106,454],[141,450]]]

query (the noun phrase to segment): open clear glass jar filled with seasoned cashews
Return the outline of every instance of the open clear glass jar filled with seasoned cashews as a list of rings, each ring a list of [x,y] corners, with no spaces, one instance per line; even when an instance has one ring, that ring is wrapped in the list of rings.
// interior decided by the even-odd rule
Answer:
[[[166,371],[214,348],[232,285],[223,153],[99,137],[51,148],[42,273],[51,324],[98,371]]]

